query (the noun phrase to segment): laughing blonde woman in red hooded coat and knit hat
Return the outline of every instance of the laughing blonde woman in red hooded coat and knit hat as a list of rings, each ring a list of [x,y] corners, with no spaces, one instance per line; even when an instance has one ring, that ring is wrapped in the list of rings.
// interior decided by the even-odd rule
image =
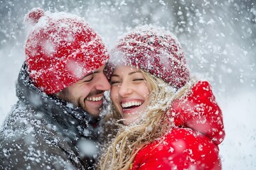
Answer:
[[[119,129],[99,169],[221,169],[222,112],[208,82],[190,77],[174,35],[137,28],[110,62],[108,123]]]

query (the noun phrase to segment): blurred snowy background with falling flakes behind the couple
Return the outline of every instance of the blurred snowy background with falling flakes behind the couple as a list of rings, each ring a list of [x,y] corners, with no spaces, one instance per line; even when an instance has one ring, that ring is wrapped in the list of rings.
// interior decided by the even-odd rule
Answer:
[[[223,110],[223,169],[256,169],[255,0],[0,0],[0,124],[17,101],[15,84],[25,60],[23,16],[34,7],[84,17],[110,48],[135,26],[171,30],[191,73],[210,81]]]

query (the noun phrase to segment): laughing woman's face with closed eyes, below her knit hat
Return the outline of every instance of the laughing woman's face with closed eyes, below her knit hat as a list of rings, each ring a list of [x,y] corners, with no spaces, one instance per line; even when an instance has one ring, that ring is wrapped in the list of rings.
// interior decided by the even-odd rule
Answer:
[[[114,69],[110,97],[124,125],[138,120],[149,101],[149,85],[139,69],[119,66]]]

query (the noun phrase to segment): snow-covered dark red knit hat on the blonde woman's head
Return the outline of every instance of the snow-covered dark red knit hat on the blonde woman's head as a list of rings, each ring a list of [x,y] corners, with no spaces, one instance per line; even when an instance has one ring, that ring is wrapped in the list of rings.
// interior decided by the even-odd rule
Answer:
[[[189,79],[186,59],[176,37],[159,28],[143,26],[121,38],[110,64],[124,64],[150,72],[176,89]]]

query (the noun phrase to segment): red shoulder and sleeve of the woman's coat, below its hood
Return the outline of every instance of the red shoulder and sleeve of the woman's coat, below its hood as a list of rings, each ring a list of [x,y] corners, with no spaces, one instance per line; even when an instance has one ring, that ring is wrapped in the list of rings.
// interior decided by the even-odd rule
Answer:
[[[164,140],[140,150],[131,169],[221,169],[218,146],[198,134],[189,128],[171,130]]]

